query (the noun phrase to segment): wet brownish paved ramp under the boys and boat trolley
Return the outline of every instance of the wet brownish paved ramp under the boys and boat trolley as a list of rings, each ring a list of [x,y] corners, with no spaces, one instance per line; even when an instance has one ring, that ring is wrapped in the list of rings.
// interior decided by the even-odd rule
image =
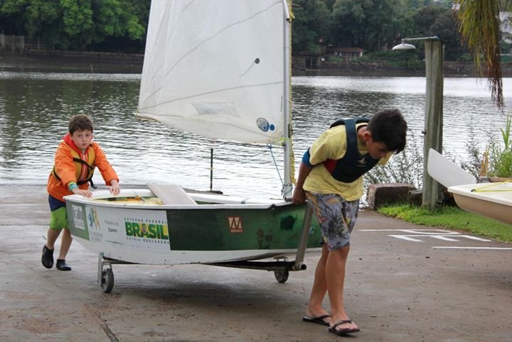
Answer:
[[[342,339],[301,321],[318,254],[285,284],[260,270],[114,265],[104,294],[97,255],[78,243],[73,271],[41,265],[44,186],[0,193],[0,341]],[[512,246],[363,211],[346,307],[362,330],[354,341],[512,341]]]

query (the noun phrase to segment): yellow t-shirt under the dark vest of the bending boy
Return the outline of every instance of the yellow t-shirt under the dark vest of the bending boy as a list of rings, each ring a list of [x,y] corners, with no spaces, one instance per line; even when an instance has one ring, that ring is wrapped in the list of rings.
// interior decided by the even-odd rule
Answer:
[[[366,123],[358,123],[357,128]],[[355,201],[363,196],[363,177],[351,183],[336,180],[323,162],[328,159],[338,160],[343,158],[347,150],[346,129],[344,125],[335,126],[321,133],[318,139],[309,148],[309,162],[315,165],[304,181],[304,189],[319,194],[339,194],[346,201]],[[365,143],[358,139],[359,154],[368,153]],[[378,165],[385,165],[393,152],[379,160]]]

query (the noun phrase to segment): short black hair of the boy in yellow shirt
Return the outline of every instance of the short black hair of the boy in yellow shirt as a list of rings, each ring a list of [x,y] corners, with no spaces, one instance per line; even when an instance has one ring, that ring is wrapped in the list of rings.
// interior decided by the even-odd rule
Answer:
[[[405,148],[407,123],[398,109],[379,111],[370,119],[367,129],[374,141],[385,143],[395,154]]]

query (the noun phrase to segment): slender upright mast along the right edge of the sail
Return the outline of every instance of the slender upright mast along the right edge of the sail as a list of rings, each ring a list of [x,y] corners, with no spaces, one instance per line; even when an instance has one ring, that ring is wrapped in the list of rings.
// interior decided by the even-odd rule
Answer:
[[[292,197],[292,161],[290,156],[292,155],[292,79],[290,75],[290,60],[292,58],[292,46],[291,46],[291,26],[292,16],[290,11],[292,8],[292,0],[283,0],[284,16],[283,30],[284,30],[284,68],[283,68],[283,113],[284,113],[284,182],[282,187],[282,197]]]

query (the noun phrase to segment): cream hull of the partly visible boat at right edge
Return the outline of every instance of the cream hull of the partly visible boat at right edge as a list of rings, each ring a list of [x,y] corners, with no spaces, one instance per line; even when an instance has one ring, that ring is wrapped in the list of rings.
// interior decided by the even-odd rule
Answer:
[[[465,184],[448,191],[461,209],[512,225],[511,182]]]

